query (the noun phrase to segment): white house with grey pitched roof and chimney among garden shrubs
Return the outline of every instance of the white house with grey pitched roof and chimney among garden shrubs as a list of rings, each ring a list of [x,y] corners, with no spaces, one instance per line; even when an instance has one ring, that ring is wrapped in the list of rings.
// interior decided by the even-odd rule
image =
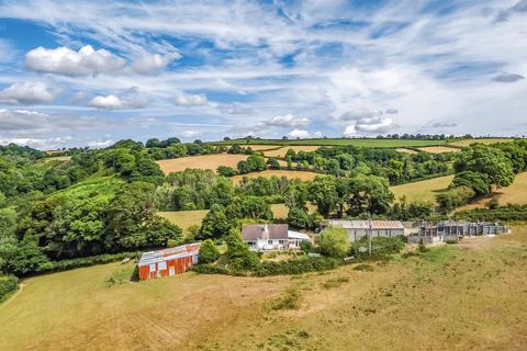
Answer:
[[[289,230],[287,224],[245,225],[242,238],[253,250],[299,249],[300,242],[311,241],[306,234]]]

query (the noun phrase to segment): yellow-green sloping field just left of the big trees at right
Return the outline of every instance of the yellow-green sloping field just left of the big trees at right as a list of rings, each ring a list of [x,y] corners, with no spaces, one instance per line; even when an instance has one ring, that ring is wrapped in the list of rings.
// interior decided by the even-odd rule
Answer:
[[[436,202],[436,195],[446,190],[450,185],[453,176],[445,176],[423,180],[419,182],[407,183],[392,186],[391,190],[395,195],[395,200],[406,196],[408,201]]]

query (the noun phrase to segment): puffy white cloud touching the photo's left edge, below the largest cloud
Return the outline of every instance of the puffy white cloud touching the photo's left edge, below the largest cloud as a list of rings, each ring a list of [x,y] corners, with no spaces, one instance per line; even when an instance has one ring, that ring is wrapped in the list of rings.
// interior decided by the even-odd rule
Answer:
[[[9,104],[37,104],[55,100],[58,91],[42,81],[16,82],[0,91],[0,101]]]

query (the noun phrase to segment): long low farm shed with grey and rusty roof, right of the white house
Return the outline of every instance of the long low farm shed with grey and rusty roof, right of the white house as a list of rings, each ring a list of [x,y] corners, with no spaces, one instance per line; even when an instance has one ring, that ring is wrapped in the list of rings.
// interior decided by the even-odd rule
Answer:
[[[348,231],[349,241],[358,241],[365,236],[396,237],[404,235],[404,225],[399,220],[349,220],[329,219],[326,226],[344,228]]]

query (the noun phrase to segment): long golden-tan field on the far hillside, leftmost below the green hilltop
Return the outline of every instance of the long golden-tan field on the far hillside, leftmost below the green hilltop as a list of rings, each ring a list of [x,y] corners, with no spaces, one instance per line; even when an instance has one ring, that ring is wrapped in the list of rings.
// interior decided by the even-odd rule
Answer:
[[[169,160],[157,161],[165,174],[180,172],[188,168],[210,169],[214,172],[220,166],[236,168],[239,161],[247,159],[247,155],[202,155],[173,158]]]

